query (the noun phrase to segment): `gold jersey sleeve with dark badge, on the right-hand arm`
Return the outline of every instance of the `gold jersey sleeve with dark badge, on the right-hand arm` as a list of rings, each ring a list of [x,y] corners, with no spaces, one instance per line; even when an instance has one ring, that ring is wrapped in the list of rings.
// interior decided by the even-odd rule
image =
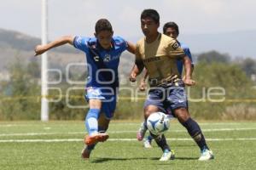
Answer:
[[[170,57],[175,59],[183,59],[183,57],[185,56],[183,48],[180,47],[175,39],[172,39],[170,42],[168,42],[168,45],[166,47],[166,53]]]

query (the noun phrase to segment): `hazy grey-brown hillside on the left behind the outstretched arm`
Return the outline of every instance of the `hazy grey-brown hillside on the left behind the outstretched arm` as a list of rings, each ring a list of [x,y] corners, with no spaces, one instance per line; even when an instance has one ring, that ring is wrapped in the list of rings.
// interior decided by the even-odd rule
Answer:
[[[8,66],[18,58],[27,63],[31,60],[41,62],[40,56],[34,57],[34,48],[40,44],[40,39],[31,37],[17,31],[8,31],[0,29],[0,71],[6,71]],[[49,50],[49,68],[61,69],[66,71],[67,65],[71,63],[83,63],[85,61],[84,53],[73,48],[70,45],[64,45],[59,48]],[[121,73],[127,74],[131,71],[134,56],[124,53],[120,59],[119,69]],[[84,66],[79,66],[78,71],[84,71]]]

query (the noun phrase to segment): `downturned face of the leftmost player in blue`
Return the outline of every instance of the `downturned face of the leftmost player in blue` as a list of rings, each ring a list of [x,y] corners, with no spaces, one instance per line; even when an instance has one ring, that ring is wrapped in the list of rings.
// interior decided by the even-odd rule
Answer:
[[[102,48],[104,48],[104,49],[111,48],[111,40],[113,37],[113,31],[100,31],[97,34],[95,33],[95,37],[100,42]]]

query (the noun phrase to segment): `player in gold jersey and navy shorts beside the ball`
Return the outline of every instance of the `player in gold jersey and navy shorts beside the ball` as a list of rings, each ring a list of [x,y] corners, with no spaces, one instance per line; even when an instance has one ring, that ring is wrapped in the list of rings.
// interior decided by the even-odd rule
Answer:
[[[131,82],[136,81],[145,67],[148,71],[150,90],[148,99],[144,104],[144,118],[154,112],[167,113],[171,109],[178,121],[187,128],[190,136],[201,149],[199,160],[206,161],[213,158],[212,151],[208,148],[201,128],[190,116],[187,110],[187,96],[185,85],[192,86],[195,81],[191,79],[191,61],[183,52],[183,49],[172,37],[160,34],[160,16],[154,9],[145,9],[141,14],[141,28],[145,37],[137,42],[136,62],[131,71]],[[177,71],[177,59],[183,59],[185,77]],[[142,136],[146,132],[145,123],[140,129]],[[173,153],[166,143],[165,135],[154,136],[155,142],[163,150],[160,161],[168,161],[173,158]]]

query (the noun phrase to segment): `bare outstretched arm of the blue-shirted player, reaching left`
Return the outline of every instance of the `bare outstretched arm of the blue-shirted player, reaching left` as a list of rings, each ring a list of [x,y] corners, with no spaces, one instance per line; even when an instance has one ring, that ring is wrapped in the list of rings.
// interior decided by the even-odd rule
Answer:
[[[53,42],[49,42],[48,44],[38,45],[35,48],[35,56],[44,54],[44,52],[48,51],[50,48],[59,47],[66,43],[73,45],[73,38],[74,38],[73,36],[63,36],[63,37],[57,38]]]

